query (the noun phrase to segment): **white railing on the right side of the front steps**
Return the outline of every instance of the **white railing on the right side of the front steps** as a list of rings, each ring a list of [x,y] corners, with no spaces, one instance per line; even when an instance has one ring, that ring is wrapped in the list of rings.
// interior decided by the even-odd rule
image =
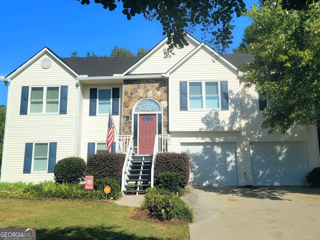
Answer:
[[[153,156],[151,163],[151,179],[150,187],[154,185],[154,163],[155,155],[158,152],[168,152],[171,151],[171,136],[169,134],[156,134],[154,139]]]

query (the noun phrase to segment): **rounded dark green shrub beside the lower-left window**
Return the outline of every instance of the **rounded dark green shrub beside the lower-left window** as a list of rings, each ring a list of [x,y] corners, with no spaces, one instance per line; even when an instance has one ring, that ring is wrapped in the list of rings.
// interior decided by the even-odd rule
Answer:
[[[80,157],[66,157],[54,165],[56,183],[79,183],[84,180],[85,161]]]

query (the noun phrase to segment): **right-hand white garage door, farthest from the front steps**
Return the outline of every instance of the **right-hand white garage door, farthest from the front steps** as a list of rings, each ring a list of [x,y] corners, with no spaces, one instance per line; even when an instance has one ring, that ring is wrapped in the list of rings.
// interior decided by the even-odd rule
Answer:
[[[306,142],[251,142],[253,185],[305,185]]]

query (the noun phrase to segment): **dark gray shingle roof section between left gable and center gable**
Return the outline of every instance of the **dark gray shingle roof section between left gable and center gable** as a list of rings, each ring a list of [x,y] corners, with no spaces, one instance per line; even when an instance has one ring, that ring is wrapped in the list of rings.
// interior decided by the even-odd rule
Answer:
[[[79,75],[112,76],[124,72],[141,56],[120,57],[61,57]]]

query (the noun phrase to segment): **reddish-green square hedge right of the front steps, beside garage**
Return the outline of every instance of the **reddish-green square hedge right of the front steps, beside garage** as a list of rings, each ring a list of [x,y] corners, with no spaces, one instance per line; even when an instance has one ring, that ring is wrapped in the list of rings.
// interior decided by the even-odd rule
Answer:
[[[176,172],[181,176],[180,187],[184,187],[189,181],[189,156],[186,153],[159,152],[155,156],[154,180],[158,182],[160,172]]]

